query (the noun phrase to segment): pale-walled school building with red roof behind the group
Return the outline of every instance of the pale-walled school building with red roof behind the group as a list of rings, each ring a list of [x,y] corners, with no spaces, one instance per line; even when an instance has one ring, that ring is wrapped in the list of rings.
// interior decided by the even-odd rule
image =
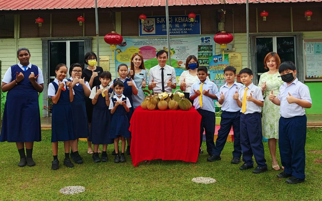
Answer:
[[[139,38],[140,26],[143,26],[139,15],[165,16],[165,0],[98,0],[97,5],[99,56],[104,56],[104,65],[115,77],[116,61],[113,57],[116,52],[105,43],[104,36],[116,31],[123,39],[135,41]],[[1,77],[10,66],[17,64],[17,49],[29,48],[30,62],[42,69],[45,81],[44,91],[39,95],[42,117],[49,115],[43,106],[48,105],[47,86],[55,76],[55,66],[58,63],[66,63],[67,66],[83,63],[86,52],[96,53],[94,8],[94,0],[24,0],[19,3],[3,0],[0,4]],[[242,67],[247,67],[246,0],[169,0],[170,16],[187,16],[189,13],[200,17],[201,37],[213,36],[223,30],[231,33],[233,41],[225,52],[241,53]],[[80,16],[85,18],[82,25],[77,20]],[[42,26],[35,23],[37,18],[43,19],[43,22],[38,21]],[[254,84],[265,72],[263,59],[268,52],[277,52],[282,61],[293,61],[299,80],[308,85],[311,92],[313,104],[306,110],[307,114],[322,114],[321,19],[321,0],[249,0],[249,67],[257,75],[254,76]],[[151,37],[157,39],[161,36]],[[173,37],[177,36],[170,36]],[[184,37],[189,39],[192,36]],[[214,47],[213,52],[219,54],[220,45]],[[1,102],[4,105],[5,100]]]

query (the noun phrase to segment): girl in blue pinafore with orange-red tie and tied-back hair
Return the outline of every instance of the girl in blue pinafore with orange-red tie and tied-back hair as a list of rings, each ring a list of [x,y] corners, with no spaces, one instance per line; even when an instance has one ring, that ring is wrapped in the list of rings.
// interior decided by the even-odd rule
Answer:
[[[76,139],[71,109],[74,92],[71,82],[65,79],[67,75],[66,65],[58,64],[55,73],[55,80],[48,85],[48,97],[54,103],[52,106],[52,153],[54,157],[52,170],[57,170],[59,167],[58,141],[64,141],[64,165],[69,168],[74,167],[69,158],[69,147],[70,141]]]

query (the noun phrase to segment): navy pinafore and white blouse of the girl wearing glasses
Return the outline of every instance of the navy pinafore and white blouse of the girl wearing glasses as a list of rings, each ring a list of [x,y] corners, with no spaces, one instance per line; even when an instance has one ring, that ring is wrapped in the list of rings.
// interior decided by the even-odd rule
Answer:
[[[72,80],[72,77],[68,79],[70,82]],[[85,81],[85,85],[90,89],[88,82]],[[88,118],[86,113],[84,89],[80,83],[77,83],[73,87],[73,90],[75,95],[73,101],[71,102],[71,108],[74,118],[74,135],[76,138],[87,138],[90,133],[90,129],[88,126]]]

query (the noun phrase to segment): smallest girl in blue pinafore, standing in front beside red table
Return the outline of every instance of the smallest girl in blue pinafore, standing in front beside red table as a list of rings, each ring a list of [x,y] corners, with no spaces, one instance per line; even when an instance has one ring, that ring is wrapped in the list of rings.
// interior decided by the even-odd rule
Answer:
[[[111,98],[109,103],[109,109],[111,110],[112,123],[111,123],[111,131],[110,138],[114,138],[114,148],[115,148],[115,163],[125,162],[125,138],[130,137],[131,133],[128,130],[129,122],[128,122],[128,112],[130,108],[132,108],[131,103],[128,97],[125,97],[124,92],[124,84],[122,81],[117,80],[113,83],[113,88],[115,95]],[[121,155],[118,153],[118,140],[121,137]]]

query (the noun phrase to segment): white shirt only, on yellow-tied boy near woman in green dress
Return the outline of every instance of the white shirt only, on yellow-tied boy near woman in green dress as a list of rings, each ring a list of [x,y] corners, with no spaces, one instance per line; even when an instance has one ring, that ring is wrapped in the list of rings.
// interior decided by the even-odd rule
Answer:
[[[242,102],[242,98],[244,97],[245,87],[243,86],[241,89],[239,89],[239,100]],[[247,86],[247,96],[252,95],[254,99],[264,101],[263,94],[261,92],[261,89],[258,86],[255,86],[253,83]],[[242,112],[242,109],[240,109]],[[244,114],[252,114],[255,112],[261,112],[261,107],[256,105],[252,101],[246,100],[246,112]]]

